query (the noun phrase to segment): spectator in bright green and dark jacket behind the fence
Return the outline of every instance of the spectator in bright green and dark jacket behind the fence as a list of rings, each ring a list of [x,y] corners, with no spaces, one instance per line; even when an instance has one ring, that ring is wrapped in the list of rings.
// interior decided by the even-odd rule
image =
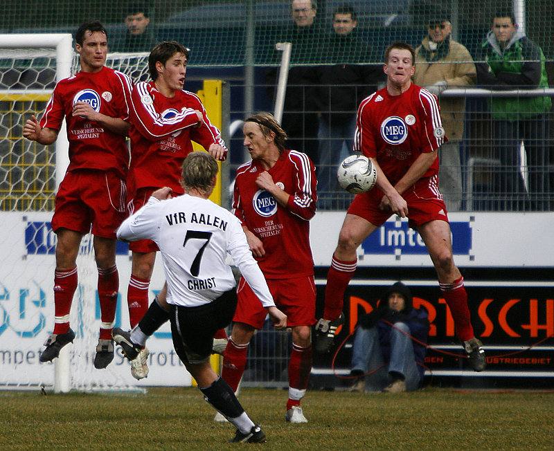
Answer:
[[[492,30],[481,45],[479,84],[496,90],[547,88],[542,49],[519,30],[509,10],[494,15]],[[548,210],[548,111],[551,99],[492,97],[494,158],[500,160],[495,194],[501,210]],[[528,189],[521,174],[521,141],[527,155]]]

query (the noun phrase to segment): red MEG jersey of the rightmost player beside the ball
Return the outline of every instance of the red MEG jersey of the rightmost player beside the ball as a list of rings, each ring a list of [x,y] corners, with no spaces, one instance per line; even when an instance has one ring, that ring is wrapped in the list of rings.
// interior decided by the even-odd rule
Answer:
[[[377,158],[391,185],[420,154],[436,151],[446,141],[436,97],[413,83],[401,95],[390,95],[385,88],[359,105],[354,150]],[[423,177],[437,173],[438,158]]]

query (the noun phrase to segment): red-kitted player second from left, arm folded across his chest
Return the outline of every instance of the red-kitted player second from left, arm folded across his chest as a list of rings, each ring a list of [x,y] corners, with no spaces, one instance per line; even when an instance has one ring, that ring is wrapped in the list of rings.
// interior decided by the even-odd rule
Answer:
[[[131,168],[129,199],[136,211],[152,192],[167,186],[183,194],[181,165],[198,142],[217,160],[226,158],[227,149],[217,127],[211,124],[198,96],[184,91],[188,48],[175,41],[157,44],[148,57],[151,82],[139,82],[132,93]],[[158,246],[151,240],[130,243],[132,270],[127,289],[129,321],[133,328],[148,309],[148,288]],[[154,300],[162,311],[166,288]],[[166,318],[167,320],[167,318]],[[132,361],[134,378],[148,375],[148,349]]]

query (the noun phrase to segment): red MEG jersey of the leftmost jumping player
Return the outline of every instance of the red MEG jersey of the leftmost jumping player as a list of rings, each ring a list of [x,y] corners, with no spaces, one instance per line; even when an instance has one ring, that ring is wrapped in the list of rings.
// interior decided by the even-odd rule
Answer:
[[[106,116],[128,120],[132,84],[127,75],[107,67],[98,73],[81,71],[56,84],[40,126],[60,130],[66,119],[68,171],[114,170],[120,178],[126,178],[129,150],[125,136],[114,134],[81,116],[73,116],[72,108],[75,102],[87,102]]]

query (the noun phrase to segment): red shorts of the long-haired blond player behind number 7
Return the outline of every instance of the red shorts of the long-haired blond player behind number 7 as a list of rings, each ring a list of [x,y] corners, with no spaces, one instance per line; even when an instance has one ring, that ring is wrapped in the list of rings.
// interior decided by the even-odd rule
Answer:
[[[314,276],[294,279],[266,279],[275,305],[287,315],[287,326],[312,326],[316,322],[316,285]],[[250,324],[262,329],[267,310],[252,291],[249,284],[240,278],[237,288],[238,304],[233,321]]]

